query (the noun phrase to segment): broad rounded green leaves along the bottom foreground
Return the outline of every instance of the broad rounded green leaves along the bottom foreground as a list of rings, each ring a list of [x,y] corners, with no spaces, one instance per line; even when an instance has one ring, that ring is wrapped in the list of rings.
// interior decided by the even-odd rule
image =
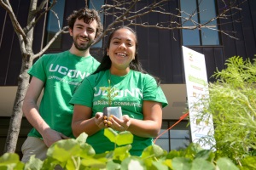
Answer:
[[[113,133],[111,128],[105,129],[105,134],[119,147],[106,153],[96,154],[90,144],[85,143],[87,135],[82,133],[78,139],[64,139],[49,147],[44,161],[31,156],[30,161],[23,163],[17,154],[4,154],[0,157],[0,169],[54,169],[61,166],[64,169],[153,169],[153,170],[238,170],[239,168],[229,158],[218,158],[212,150],[203,150],[199,144],[190,144],[187,149],[172,150],[169,153],[160,146],[153,144],[143,150],[142,156],[131,156],[132,134]],[[124,136],[123,136],[124,135]],[[119,142],[118,140],[122,140]],[[256,157],[247,157],[247,166],[243,169],[253,169]]]

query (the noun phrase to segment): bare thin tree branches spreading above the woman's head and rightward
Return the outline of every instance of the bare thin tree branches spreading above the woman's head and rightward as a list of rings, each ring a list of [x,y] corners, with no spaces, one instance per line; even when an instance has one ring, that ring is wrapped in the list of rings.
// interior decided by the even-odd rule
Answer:
[[[182,11],[180,9],[177,9],[177,14],[173,14],[171,12],[166,12],[166,5],[169,5],[168,2],[171,2],[170,0],[159,0],[159,1],[153,1],[152,3],[146,4],[142,8],[136,6],[136,4],[139,2],[139,0],[134,1],[117,1],[113,0],[112,3],[106,2],[104,5],[102,5],[101,12],[105,15],[112,15],[113,16],[113,22],[106,28],[106,30],[103,32],[102,37],[107,34],[108,31],[111,31],[113,27],[119,23],[124,23],[125,21],[128,22],[128,24],[125,24],[127,26],[143,26],[143,27],[151,27],[151,28],[157,28],[157,29],[165,29],[165,30],[175,30],[175,29],[185,29],[185,30],[195,30],[195,29],[201,29],[206,28],[213,31],[218,31],[221,33],[224,33],[224,35],[227,35],[229,37],[235,38],[231,34],[234,32],[229,31],[221,31],[218,30],[219,26],[217,23],[214,23],[214,26],[211,26],[211,23],[214,20],[224,20],[232,18],[235,14],[237,14],[241,8],[239,6],[241,3],[246,2],[247,0],[243,0],[241,3],[236,4],[236,0],[234,0],[232,3],[227,4],[226,1],[222,0],[220,3],[224,4],[224,9],[220,11],[220,13],[203,23],[199,23],[197,20],[194,20],[195,15],[200,14],[204,12],[205,10],[199,11],[198,8],[203,0],[200,1],[199,5],[195,10],[189,14],[185,11]],[[231,12],[231,10],[233,10]],[[160,14],[160,16],[170,16],[171,19],[166,22],[158,22],[154,24],[149,24],[148,20],[143,21],[142,17],[147,14]],[[229,14],[230,13],[230,14]],[[181,14],[187,15],[186,17],[182,16]],[[140,19],[140,20],[137,20]],[[180,21],[179,21],[180,20]],[[185,23],[190,22],[194,26],[184,26]],[[224,25],[225,23],[221,23],[220,25]],[[231,33],[231,34],[230,34]]]

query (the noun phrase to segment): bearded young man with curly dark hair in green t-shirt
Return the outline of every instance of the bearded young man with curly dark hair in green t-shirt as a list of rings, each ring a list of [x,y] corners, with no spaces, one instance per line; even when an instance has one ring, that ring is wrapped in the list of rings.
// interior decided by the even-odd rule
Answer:
[[[69,104],[75,88],[96,70],[99,62],[90,55],[90,45],[102,34],[102,23],[94,9],[81,8],[68,18],[72,47],[59,54],[45,54],[32,65],[32,76],[23,103],[23,113],[33,128],[22,145],[23,162],[30,156],[44,160],[49,146],[73,138],[73,106]],[[37,101],[44,95],[38,109]]]

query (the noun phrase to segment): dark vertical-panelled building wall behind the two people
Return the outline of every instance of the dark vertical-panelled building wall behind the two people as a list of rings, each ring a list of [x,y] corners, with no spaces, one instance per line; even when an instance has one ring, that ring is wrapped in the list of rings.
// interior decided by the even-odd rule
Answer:
[[[220,1],[220,0],[218,0]],[[217,1],[217,2],[218,2]],[[16,3],[17,2],[17,3]],[[76,3],[67,1],[67,8],[65,9],[65,19],[67,15],[75,8],[80,8],[84,5],[84,2],[75,1]],[[146,2],[146,3],[144,3]],[[142,1],[137,6],[148,5],[150,1]],[[240,1],[239,1],[240,2]],[[14,10],[18,16],[20,23],[26,25],[26,11],[28,10],[29,1],[15,1]],[[217,3],[220,4],[220,3]],[[224,61],[234,55],[240,55],[244,58],[253,59],[256,54],[256,21],[253,20],[256,17],[256,2],[253,0],[247,0],[246,3],[242,3],[242,10],[240,13],[233,16],[230,24],[222,25],[227,20],[219,20],[220,29],[225,31],[236,31],[233,34],[234,39],[224,34],[220,35],[222,45],[219,46],[191,46],[199,53],[205,54],[207,64],[207,75],[209,80],[212,73],[224,68]],[[163,7],[166,11],[175,13],[179,8],[177,0],[172,0]],[[218,8],[223,8],[219,6]],[[15,86],[17,85],[17,78],[20,72],[20,47],[18,38],[13,30],[9,16],[5,13],[3,8],[0,8],[0,86]],[[169,20],[168,16],[162,17],[158,14],[148,14],[143,16],[144,21],[148,23],[156,23],[157,21]],[[105,26],[111,23],[112,16],[105,17]],[[240,20],[240,22],[235,22]],[[178,20],[177,20],[178,21]],[[64,21],[64,25],[67,25],[67,21]],[[136,27],[139,41],[139,57],[143,63],[143,67],[149,73],[160,77],[163,83],[184,83],[183,78],[183,59],[182,59],[182,38],[181,31],[167,31],[155,28]],[[44,22],[38,23],[35,28],[35,37],[33,49],[35,53],[38,53],[41,48],[42,38],[44,31]],[[46,53],[57,53],[70,48],[72,39],[68,34],[63,35],[62,45],[60,49],[50,50]],[[91,48],[91,53],[96,55],[96,58],[101,60],[103,48]]]

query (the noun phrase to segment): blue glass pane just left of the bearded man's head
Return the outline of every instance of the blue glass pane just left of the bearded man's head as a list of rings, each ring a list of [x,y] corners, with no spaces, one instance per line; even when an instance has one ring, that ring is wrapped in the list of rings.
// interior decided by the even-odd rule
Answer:
[[[55,36],[55,33],[57,31],[60,31],[60,28],[63,27],[64,8],[65,8],[65,0],[58,1],[58,3],[56,3],[55,6],[52,8],[55,14],[57,14],[59,20],[57,19],[57,17],[53,12],[49,12],[48,22],[46,27],[47,42],[49,42],[50,39]],[[55,42],[53,42],[49,48],[50,49],[61,48],[61,35],[55,39]]]

